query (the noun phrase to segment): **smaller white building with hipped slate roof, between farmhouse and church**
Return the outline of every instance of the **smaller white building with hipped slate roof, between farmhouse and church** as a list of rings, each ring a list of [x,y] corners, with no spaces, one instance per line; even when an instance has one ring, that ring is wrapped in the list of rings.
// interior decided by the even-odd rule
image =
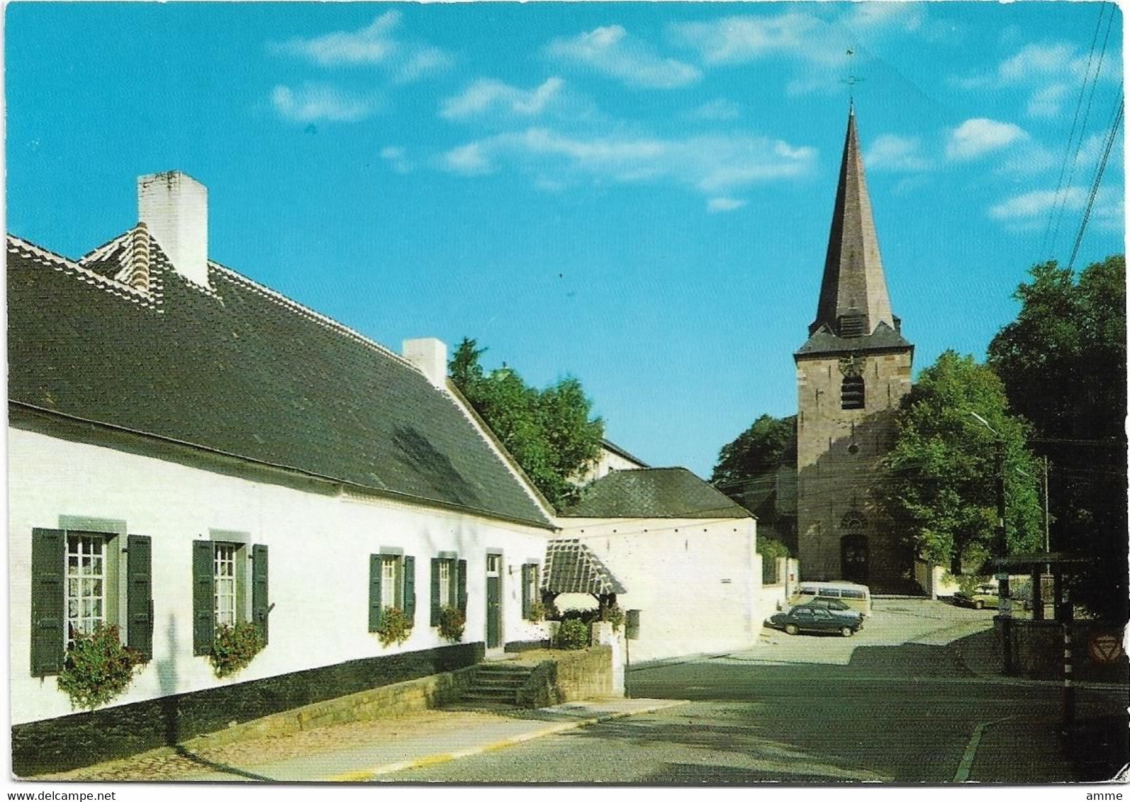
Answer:
[[[547,590],[576,592],[570,581],[580,577],[638,610],[632,662],[756,644],[765,608],[757,522],[687,469],[612,471],[557,524]]]

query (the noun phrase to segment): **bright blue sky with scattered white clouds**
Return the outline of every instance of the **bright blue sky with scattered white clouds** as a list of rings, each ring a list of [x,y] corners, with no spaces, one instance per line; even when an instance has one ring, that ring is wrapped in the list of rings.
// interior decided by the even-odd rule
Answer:
[[[575,375],[609,438],[709,477],[796,410],[844,79],[915,368],[983,358],[1070,255],[1121,96],[1103,8],[17,2],[7,227],[79,256],[184,171],[212,259],[397,350]],[[1124,250],[1122,149],[1077,267]]]

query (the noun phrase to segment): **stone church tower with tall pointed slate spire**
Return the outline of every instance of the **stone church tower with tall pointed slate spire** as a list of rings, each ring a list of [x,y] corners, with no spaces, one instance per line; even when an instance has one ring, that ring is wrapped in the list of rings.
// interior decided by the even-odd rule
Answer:
[[[890,311],[854,105],[816,320],[797,361],[797,534],[805,579],[903,585],[912,555],[878,514],[879,461],[911,389],[914,346]]]

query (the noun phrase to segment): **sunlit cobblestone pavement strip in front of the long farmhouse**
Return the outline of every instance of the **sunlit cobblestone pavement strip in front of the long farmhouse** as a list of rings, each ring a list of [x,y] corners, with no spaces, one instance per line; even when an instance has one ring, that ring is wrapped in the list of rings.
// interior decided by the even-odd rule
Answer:
[[[420,711],[351,724],[336,724],[289,735],[270,735],[236,743],[209,744],[208,736],[193,739],[181,747],[162,747],[121,760],[111,760],[60,774],[36,775],[35,779],[73,782],[154,782],[188,779],[193,774],[215,772],[228,766],[252,767],[292,757],[374,743],[388,743],[407,734],[412,736],[443,733],[478,724],[508,721],[489,712]],[[246,770],[246,769],[245,769]]]

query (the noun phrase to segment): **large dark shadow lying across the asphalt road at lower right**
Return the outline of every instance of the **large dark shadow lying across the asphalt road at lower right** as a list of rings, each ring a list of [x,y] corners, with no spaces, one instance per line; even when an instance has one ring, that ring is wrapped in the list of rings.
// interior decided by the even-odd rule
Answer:
[[[819,648],[822,643],[814,639],[811,645]],[[729,726],[711,723],[698,731],[679,723],[646,731],[649,738],[753,756],[766,766],[760,777],[756,770],[749,774],[740,768],[727,775],[731,781],[721,782],[782,775],[798,783],[860,782],[864,779],[861,774],[880,782],[922,782],[914,774],[916,765],[932,761],[932,776],[925,782],[948,783],[974,729],[1002,718],[1016,721],[998,727],[1000,734],[981,749],[980,762],[974,764],[981,776],[975,770],[975,779],[1001,782],[994,779],[997,766],[1022,751],[1044,756],[1043,765],[1028,778],[1009,773],[1008,782],[1110,779],[1130,760],[1124,691],[1077,689],[1079,723],[1063,738],[1062,689],[1053,682],[1010,682],[992,675],[988,670],[993,648],[989,631],[944,645],[860,644],[847,664],[784,663],[746,653],[631,671],[627,685],[633,697],[747,703],[734,706],[747,713],[736,714],[737,721]],[[972,660],[981,661],[977,666],[983,673],[973,671]],[[981,681],[979,675],[1000,681]],[[645,725],[634,720],[611,732],[642,738],[644,731],[637,727]],[[765,730],[770,725],[772,732]],[[601,733],[607,726],[600,727]],[[1041,744],[1037,750],[1033,750],[1035,741]],[[729,772],[727,761],[721,762]],[[676,775],[683,770],[672,768],[676,774],[662,779],[695,782],[679,779]],[[687,777],[703,776],[687,772]]]

